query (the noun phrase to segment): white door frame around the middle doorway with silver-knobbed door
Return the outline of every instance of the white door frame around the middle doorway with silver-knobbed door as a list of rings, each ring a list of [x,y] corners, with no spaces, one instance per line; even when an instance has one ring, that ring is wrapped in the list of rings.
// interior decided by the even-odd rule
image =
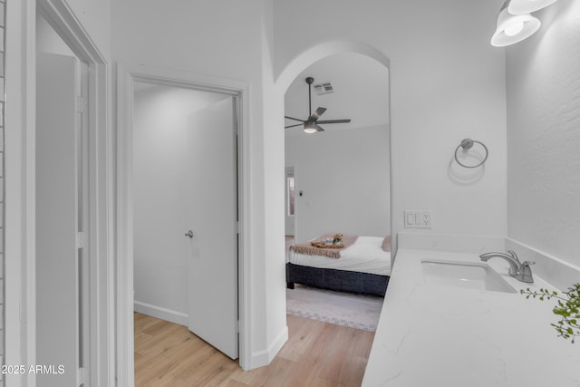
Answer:
[[[159,83],[166,86],[220,92],[237,102],[237,208],[238,208],[238,308],[239,363],[242,368],[251,358],[248,343],[251,332],[249,299],[249,86],[206,74],[184,73],[143,65],[117,64],[117,378],[119,385],[134,385],[133,339],[133,98],[134,83]]]

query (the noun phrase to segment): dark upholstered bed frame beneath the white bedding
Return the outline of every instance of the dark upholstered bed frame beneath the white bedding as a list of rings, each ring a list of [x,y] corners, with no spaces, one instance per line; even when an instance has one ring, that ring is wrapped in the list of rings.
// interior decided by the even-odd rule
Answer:
[[[338,292],[384,297],[387,285],[389,285],[389,278],[389,276],[376,274],[286,263],[286,286],[288,289],[294,289],[295,284],[302,284]]]

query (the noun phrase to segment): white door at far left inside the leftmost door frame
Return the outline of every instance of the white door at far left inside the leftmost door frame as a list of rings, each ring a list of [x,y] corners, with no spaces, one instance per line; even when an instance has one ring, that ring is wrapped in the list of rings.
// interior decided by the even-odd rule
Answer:
[[[46,367],[37,374],[43,387],[82,383],[78,66],[73,57],[37,55],[36,364]]]

